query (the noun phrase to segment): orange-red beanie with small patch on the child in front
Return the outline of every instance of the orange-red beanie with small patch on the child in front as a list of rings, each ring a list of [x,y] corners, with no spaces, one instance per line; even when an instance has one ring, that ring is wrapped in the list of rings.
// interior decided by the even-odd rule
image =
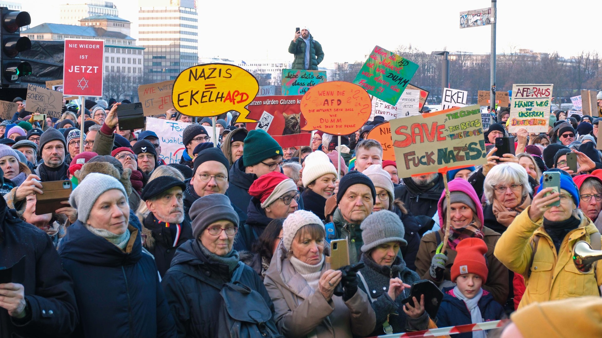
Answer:
[[[483,284],[487,282],[487,244],[480,238],[465,238],[456,246],[456,259],[452,265],[452,281],[456,281],[459,275],[476,274],[483,278]]]

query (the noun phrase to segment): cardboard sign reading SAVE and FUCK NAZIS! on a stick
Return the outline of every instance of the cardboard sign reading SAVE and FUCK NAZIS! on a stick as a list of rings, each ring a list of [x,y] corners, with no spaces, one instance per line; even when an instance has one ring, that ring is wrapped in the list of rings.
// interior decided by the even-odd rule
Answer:
[[[486,163],[478,105],[390,120],[399,177]]]

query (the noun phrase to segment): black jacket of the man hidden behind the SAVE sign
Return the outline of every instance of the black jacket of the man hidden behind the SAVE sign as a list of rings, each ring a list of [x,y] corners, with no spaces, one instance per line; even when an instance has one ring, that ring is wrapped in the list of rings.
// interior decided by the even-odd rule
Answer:
[[[420,191],[411,178],[403,179],[403,183],[405,185],[394,189],[395,199],[400,198],[412,215],[433,217],[437,212],[437,203],[441,198],[441,192],[445,189],[441,174],[427,191]]]

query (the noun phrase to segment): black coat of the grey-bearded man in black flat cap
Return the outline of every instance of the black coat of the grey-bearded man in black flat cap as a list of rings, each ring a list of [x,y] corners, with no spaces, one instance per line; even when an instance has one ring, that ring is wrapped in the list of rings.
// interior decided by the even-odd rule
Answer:
[[[176,253],[176,249],[182,245],[188,239],[193,239],[192,226],[190,222],[184,219],[180,227],[179,239],[176,245],[173,245],[175,238],[172,236],[172,230],[169,227],[157,224],[152,213],[144,218],[144,227],[152,232],[152,239],[146,238],[144,240],[144,248],[148,250],[154,257],[155,263],[157,263],[157,269],[161,277],[165,275],[167,269],[172,264],[173,255]],[[177,232],[176,232],[177,234]]]

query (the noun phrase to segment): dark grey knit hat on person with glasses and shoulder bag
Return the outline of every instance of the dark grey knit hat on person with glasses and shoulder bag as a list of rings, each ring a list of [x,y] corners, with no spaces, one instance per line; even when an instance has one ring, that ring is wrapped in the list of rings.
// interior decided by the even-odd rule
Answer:
[[[192,234],[199,238],[206,227],[217,221],[231,221],[234,226],[240,222],[230,198],[222,194],[206,195],[194,201],[188,211],[192,220]]]

